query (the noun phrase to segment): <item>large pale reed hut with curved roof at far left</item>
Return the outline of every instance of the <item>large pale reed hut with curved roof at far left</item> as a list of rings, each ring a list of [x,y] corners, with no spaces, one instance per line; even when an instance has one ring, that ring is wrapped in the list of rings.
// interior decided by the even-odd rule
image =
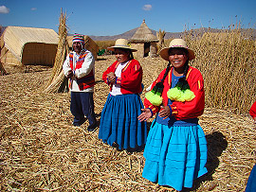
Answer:
[[[58,45],[53,29],[8,26],[0,38],[1,62],[12,65],[52,66]]]

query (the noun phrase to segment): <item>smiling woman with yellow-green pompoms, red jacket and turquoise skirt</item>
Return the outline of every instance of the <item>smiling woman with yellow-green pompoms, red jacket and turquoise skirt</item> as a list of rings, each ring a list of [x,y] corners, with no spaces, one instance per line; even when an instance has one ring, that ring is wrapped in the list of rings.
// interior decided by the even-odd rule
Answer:
[[[169,61],[145,95],[145,109],[138,119],[155,120],[144,149],[142,177],[180,191],[207,173],[207,142],[198,124],[204,112],[204,80],[189,66],[194,53],[182,39],[174,39],[160,56]]]

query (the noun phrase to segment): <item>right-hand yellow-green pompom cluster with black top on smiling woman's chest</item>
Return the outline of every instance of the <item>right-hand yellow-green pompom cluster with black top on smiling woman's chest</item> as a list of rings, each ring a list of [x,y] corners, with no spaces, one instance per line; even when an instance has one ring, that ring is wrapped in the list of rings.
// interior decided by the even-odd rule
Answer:
[[[179,79],[174,88],[167,92],[168,98],[175,101],[192,101],[195,97],[190,89],[190,85],[186,79]]]

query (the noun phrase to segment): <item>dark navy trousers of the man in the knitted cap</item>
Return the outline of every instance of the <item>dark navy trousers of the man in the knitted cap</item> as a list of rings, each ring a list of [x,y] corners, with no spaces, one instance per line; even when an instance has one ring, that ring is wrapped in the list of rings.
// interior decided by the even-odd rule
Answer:
[[[93,93],[71,92],[70,111],[74,115],[73,125],[82,125],[85,121],[84,115],[89,120],[89,125],[95,124]]]

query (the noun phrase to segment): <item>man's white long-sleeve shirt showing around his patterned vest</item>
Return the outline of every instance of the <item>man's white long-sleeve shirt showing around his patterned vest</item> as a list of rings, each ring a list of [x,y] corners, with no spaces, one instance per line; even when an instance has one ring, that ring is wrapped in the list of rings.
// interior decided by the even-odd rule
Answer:
[[[73,69],[75,70],[75,71],[73,70],[73,74],[75,74],[75,77],[73,77],[72,79],[68,79],[68,80],[72,80],[72,86],[70,87],[71,92],[93,92],[94,91],[94,87],[90,87],[80,91],[78,82],[77,82],[77,78],[81,79],[82,77],[88,75],[91,72],[91,70],[93,70],[93,74],[95,73],[95,59],[90,51],[86,50],[85,53],[88,53],[88,54],[85,56],[84,61],[82,62],[82,67],[80,69],[75,70],[76,64],[80,55],[77,54],[75,51],[73,51],[73,54],[74,54]],[[66,59],[64,61],[63,70],[64,70],[65,77],[67,77],[68,71],[72,70],[69,64],[69,54],[66,56]]]

